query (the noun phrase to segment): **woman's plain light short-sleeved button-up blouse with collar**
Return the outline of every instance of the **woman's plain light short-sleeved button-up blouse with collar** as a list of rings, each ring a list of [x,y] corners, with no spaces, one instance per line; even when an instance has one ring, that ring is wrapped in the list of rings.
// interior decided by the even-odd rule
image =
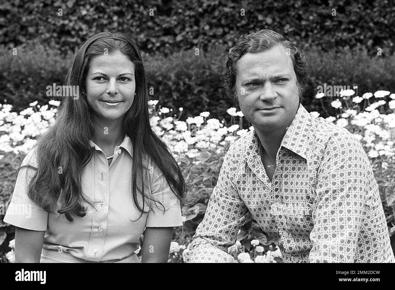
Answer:
[[[94,155],[83,169],[81,183],[83,193],[94,202],[96,209],[85,205],[88,207],[85,217],[73,217],[74,221],[69,222],[63,214],[43,210],[32,202],[26,191],[26,181],[30,181],[34,170],[24,167],[19,171],[4,222],[45,231],[41,262],[117,262],[125,257],[128,259],[122,261],[138,262],[134,251],[139,248],[145,227],[182,225],[179,199],[160,169],[144,158],[147,167],[145,192],[151,192],[166,210],[146,200],[144,210],[149,209],[147,202],[151,202],[153,211],[144,213],[139,219],[141,212],[132,197],[133,148],[128,136],[115,147],[110,166],[105,153],[90,142]],[[22,165],[37,167],[35,151],[34,148],[28,153]]]

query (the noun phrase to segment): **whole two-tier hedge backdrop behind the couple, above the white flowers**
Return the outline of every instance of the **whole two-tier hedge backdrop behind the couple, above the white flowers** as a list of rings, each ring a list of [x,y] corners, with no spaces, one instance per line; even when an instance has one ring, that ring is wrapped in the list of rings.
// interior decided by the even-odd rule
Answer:
[[[0,102],[6,99],[15,112],[36,100],[47,103],[46,86],[62,84],[77,47],[111,30],[135,39],[152,99],[175,112],[182,107],[183,120],[203,111],[230,118],[226,110],[234,104],[221,86],[224,59],[251,30],[281,32],[305,52],[308,111],[335,114],[314,99],[324,83],[395,91],[393,1],[14,0],[0,4],[0,15]],[[13,48],[21,57],[9,53]]]

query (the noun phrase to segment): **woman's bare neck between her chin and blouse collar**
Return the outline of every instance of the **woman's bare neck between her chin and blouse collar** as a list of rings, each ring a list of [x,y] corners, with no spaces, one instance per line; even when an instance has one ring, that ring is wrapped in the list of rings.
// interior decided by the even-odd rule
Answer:
[[[103,122],[100,120],[92,120],[95,135],[92,141],[100,148],[115,148],[119,146],[124,137],[125,133],[122,130],[121,120],[115,120],[112,122]]]

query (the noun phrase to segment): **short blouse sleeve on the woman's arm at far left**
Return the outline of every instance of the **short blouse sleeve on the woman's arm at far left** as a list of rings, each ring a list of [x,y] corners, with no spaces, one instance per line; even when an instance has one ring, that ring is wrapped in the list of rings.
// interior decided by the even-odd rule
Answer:
[[[37,168],[36,148],[33,148],[23,159],[22,165]],[[35,204],[27,194],[27,186],[35,169],[23,167],[19,170],[11,202],[6,210],[4,222],[28,230],[47,230],[48,212]]]

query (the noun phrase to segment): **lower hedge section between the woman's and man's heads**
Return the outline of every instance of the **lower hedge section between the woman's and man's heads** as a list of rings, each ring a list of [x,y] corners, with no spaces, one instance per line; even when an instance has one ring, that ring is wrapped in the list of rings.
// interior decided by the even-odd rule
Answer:
[[[224,54],[218,50],[209,53],[176,52],[167,58],[146,56],[149,86],[153,99],[175,112],[184,109],[182,120],[209,111],[220,120],[226,117],[231,101],[221,86],[224,75]]]

